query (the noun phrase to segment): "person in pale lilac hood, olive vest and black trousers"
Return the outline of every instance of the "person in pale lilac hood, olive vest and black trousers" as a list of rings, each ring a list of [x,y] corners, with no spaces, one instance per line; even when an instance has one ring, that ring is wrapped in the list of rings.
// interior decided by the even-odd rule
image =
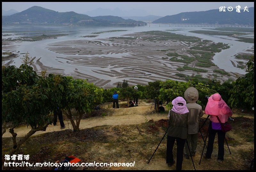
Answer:
[[[172,167],[175,163],[172,149],[176,140],[177,163],[176,170],[181,170],[183,161],[183,149],[188,133],[188,108],[183,97],[176,97],[172,100],[172,109],[169,111],[169,126],[167,130],[166,163]]]

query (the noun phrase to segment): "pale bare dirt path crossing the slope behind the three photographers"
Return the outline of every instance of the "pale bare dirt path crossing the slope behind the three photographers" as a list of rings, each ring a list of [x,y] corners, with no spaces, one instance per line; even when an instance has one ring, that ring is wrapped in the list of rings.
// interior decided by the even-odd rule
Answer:
[[[122,104],[125,102],[119,102],[119,104]],[[104,104],[102,108],[109,108],[111,109],[110,112],[111,115],[104,116],[104,117],[91,117],[82,119],[80,122],[80,129],[85,128],[92,128],[95,126],[101,126],[101,125],[131,125],[131,124],[140,124],[146,122],[146,120],[160,120],[160,119],[167,119],[166,114],[159,114],[159,113],[152,113],[154,110],[154,106],[152,106],[152,103],[145,103],[141,102],[139,106],[137,107],[131,107],[131,108],[119,108],[119,109],[112,109],[112,104]],[[151,110],[150,110],[151,108]],[[166,109],[166,107],[164,106]],[[46,131],[38,131],[33,136],[42,134],[42,133],[48,133],[48,132],[54,132],[54,131],[60,131],[60,123],[57,120],[57,125],[48,125],[46,128]],[[69,120],[64,120],[65,129],[72,129],[72,125]],[[14,132],[17,133],[17,137],[24,137],[29,131],[31,130],[31,127],[27,125],[21,125],[19,127],[16,127],[14,129]],[[11,133],[8,132],[8,128],[6,128],[6,132],[4,133],[3,137],[12,137]]]

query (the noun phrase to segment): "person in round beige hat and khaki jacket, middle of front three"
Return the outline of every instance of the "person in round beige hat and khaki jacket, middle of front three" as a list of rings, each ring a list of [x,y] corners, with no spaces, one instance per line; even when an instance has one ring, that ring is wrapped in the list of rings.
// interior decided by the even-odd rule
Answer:
[[[184,93],[184,98],[189,102],[188,104],[186,104],[189,111],[187,135],[188,144],[185,144],[184,150],[184,155],[186,159],[189,159],[189,150],[191,151],[192,156],[196,155],[196,147],[199,132],[199,118],[201,118],[204,115],[202,106],[196,103],[198,97],[198,91],[194,87],[189,87]]]

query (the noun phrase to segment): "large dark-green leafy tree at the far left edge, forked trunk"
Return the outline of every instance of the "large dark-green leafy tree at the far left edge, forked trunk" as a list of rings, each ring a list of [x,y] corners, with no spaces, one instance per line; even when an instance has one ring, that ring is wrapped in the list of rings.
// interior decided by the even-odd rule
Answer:
[[[28,53],[23,57],[24,64],[20,68],[2,66],[2,136],[9,123],[13,143],[10,154],[18,152],[31,135],[45,131],[52,124],[52,110],[61,105],[61,96],[68,83],[62,76],[38,76],[30,66],[33,62]],[[17,141],[15,128],[21,124],[30,125],[31,130]]]

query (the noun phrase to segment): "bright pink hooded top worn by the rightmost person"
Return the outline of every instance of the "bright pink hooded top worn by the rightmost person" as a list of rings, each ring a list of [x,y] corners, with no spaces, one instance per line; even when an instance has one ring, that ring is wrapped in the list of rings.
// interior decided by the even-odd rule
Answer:
[[[221,123],[228,121],[228,117],[231,117],[233,114],[231,109],[218,93],[215,93],[208,98],[204,113],[211,115],[210,120],[212,122],[219,122],[216,118],[216,116],[218,116]]]

